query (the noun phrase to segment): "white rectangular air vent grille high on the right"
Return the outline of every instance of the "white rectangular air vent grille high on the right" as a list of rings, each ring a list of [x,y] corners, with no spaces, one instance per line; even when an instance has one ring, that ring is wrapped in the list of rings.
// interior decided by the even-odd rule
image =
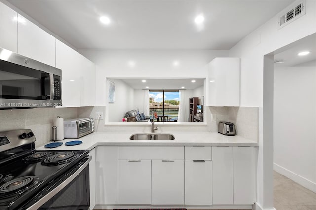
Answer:
[[[295,1],[284,9],[278,18],[278,29],[305,15],[305,1]]]

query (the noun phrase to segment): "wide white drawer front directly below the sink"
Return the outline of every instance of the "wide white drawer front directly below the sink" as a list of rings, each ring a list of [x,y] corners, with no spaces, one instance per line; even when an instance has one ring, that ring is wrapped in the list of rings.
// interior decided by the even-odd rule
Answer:
[[[119,146],[119,160],[183,160],[183,146]]]

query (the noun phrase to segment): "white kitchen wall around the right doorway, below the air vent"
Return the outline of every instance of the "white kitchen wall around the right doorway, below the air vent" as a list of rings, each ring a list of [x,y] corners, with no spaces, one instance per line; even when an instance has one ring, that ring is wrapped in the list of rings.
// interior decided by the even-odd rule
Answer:
[[[273,87],[273,75],[264,74],[264,55],[316,32],[316,1],[307,0],[306,14],[282,29],[277,29],[277,23],[278,14],[243,38],[229,53],[230,57],[241,58],[240,106],[260,107],[256,209],[266,210],[274,209],[273,138],[270,138],[273,128],[268,126],[264,130],[264,123],[273,124],[273,110],[270,107],[266,109],[263,100],[273,100],[269,88],[266,89],[269,92],[264,95],[264,86]],[[269,66],[269,62],[273,64],[273,60],[267,59],[266,66]],[[264,80],[264,75],[269,79]],[[265,105],[270,106],[270,102]]]

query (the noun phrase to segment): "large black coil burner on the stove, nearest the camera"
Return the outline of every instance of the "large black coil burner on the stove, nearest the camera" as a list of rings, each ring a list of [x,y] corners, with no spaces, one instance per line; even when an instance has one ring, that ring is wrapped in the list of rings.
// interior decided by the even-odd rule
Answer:
[[[4,183],[0,187],[0,194],[2,196],[12,195],[15,193],[22,193],[29,190],[39,182],[39,178],[36,176],[23,176],[15,178],[11,181]]]

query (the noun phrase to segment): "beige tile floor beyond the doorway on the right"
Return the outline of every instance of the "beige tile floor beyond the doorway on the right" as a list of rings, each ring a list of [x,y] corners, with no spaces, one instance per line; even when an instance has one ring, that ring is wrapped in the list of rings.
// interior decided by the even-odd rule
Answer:
[[[316,193],[274,171],[274,207],[276,210],[316,210]]]

